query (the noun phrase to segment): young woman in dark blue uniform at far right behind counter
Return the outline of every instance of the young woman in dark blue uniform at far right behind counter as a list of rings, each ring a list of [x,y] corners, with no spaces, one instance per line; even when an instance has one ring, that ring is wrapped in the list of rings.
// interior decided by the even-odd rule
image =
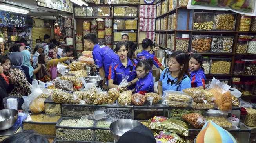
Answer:
[[[205,88],[205,74],[202,66],[203,57],[200,54],[192,54],[189,59],[189,73],[192,88]]]

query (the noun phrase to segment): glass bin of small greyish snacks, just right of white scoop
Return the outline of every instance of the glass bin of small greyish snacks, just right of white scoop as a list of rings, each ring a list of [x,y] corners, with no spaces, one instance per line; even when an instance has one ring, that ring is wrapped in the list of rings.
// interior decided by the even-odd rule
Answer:
[[[131,105],[123,106],[119,104],[98,105],[98,110],[105,112],[104,119],[132,119],[133,111]]]

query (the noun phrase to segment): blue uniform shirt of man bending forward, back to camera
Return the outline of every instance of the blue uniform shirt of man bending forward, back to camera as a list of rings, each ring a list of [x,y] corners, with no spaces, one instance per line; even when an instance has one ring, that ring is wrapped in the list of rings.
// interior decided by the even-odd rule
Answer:
[[[109,75],[109,66],[113,63],[117,63],[119,57],[108,46],[100,46],[96,44],[93,47],[93,60],[96,68],[99,69],[104,66],[105,77],[107,78]]]

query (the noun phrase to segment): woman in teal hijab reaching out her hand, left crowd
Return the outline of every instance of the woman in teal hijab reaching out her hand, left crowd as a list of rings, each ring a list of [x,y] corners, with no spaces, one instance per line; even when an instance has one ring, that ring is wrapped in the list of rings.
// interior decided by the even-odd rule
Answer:
[[[40,68],[41,64],[38,64],[37,68],[34,69],[31,66],[30,59],[31,59],[31,54],[28,50],[23,50],[22,52],[22,57],[23,57],[23,62],[22,62],[22,69],[25,71],[25,75],[27,77],[27,81],[32,84],[33,81],[33,75],[36,74]]]

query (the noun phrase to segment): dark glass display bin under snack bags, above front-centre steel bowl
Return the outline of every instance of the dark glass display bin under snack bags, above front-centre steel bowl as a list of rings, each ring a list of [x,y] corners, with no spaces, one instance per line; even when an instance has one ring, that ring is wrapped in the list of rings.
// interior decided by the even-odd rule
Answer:
[[[133,106],[133,119],[134,120],[149,120],[154,116],[168,117],[170,109],[169,106],[162,105],[161,103],[150,105],[149,102],[142,106]]]

